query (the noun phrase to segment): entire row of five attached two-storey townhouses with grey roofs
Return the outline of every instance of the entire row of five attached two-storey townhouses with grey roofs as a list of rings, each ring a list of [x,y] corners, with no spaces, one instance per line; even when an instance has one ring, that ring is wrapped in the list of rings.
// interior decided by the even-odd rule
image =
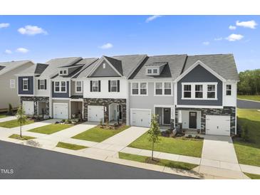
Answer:
[[[56,58],[17,75],[28,115],[149,127],[182,124],[202,134],[236,134],[232,54]]]

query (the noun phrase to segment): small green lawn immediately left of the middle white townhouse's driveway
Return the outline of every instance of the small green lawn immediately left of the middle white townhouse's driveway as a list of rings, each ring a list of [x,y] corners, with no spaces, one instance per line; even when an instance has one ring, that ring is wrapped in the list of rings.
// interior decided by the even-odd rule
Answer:
[[[68,127],[72,127],[73,125],[66,125],[66,124],[51,124],[51,125],[46,125],[43,127],[38,127],[33,130],[29,130],[29,132],[38,132],[38,133],[43,133],[43,134],[53,134],[55,132],[59,132],[61,130],[65,130]]]

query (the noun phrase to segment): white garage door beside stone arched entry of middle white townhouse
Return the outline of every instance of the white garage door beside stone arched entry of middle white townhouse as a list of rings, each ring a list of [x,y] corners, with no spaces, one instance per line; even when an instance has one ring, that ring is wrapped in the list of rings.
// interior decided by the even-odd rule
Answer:
[[[104,107],[99,105],[88,105],[88,121],[104,122]]]

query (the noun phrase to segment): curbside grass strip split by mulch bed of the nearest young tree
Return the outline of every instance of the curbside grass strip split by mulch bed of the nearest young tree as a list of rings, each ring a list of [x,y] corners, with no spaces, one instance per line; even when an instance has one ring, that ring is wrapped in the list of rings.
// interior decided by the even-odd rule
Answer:
[[[128,159],[128,160],[137,161],[137,162],[149,163],[149,162],[147,162],[147,158],[150,158],[150,157],[144,157],[144,156],[140,156],[140,155],[126,154],[123,152],[119,152],[119,158]],[[197,164],[189,164],[186,162],[176,162],[176,161],[170,161],[170,160],[166,160],[166,159],[159,159],[156,164],[160,165],[160,166],[171,167],[171,168],[176,168],[176,169],[185,169],[185,170],[191,170],[198,166]]]

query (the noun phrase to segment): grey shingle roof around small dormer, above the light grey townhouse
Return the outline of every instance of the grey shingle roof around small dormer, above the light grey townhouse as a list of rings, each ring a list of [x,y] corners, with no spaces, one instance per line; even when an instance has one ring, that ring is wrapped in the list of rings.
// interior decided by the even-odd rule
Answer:
[[[182,73],[182,68],[187,55],[149,56],[145,63],[130,76],[130,79],[155,79],[177,78]],[[150,65],[165,65],[160,75],[146,75],[146,67]]]

